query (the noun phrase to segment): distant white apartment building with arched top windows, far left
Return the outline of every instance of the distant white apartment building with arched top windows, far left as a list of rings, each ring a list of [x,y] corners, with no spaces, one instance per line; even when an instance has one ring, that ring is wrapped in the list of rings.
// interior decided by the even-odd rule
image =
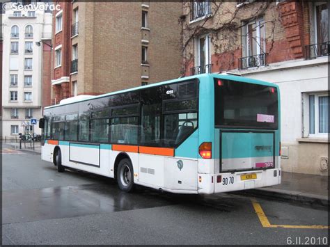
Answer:
[[[40,44],[52,38],[52,11],[36,1],[11,1],[1,10],[2,138],[15,138],[31,132],[31,118],[41,118],[42,107],[50,104],[42,92],[50,92],[50,78],[45,80],[50,77],[51,51]],[[38,127],[35,130],[40,134]]]

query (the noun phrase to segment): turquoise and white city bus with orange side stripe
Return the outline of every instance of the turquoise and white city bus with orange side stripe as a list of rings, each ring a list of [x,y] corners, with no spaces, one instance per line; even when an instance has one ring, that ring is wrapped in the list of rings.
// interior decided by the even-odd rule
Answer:
[[[171,193],[281,183],[274,83],[199,74],[46,107],[42,159]]]

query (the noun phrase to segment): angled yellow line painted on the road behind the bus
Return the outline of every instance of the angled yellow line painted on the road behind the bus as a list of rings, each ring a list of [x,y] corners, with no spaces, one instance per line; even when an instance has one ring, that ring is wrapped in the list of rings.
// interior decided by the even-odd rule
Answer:
[[[256,211],[256,214],[258,215],[258,218],[260,220],[260,223],[262,227],[264,228],[297,228],[297,229],[329,229],[329,225],[272,225],[262,210],[262,207],[257,202],[256,198],[252,198],[252,205],[254,207],[254,210]]]

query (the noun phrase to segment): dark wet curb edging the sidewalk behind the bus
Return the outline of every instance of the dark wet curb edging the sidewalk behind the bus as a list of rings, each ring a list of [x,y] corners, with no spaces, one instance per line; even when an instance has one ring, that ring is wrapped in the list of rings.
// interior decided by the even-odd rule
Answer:
[[[312,205],[320,205],[324,207],[329,206],[329,200],[327,196],[315,195],[311,193],[303,193],[301,191],[285,191],[283,189],[262,188],[262,189],[249,189],[246,191],[242,191],[242,193],[248,193],[253,196],[276,198],[280,200],[303,202]]]

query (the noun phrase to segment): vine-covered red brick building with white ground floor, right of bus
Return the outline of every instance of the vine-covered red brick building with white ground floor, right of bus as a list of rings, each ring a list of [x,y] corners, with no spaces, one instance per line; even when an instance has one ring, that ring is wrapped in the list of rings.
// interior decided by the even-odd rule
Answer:
[[[182,75],[237,72],[281,90],[281,166],[328,175],[329,1],[184,1]]]

